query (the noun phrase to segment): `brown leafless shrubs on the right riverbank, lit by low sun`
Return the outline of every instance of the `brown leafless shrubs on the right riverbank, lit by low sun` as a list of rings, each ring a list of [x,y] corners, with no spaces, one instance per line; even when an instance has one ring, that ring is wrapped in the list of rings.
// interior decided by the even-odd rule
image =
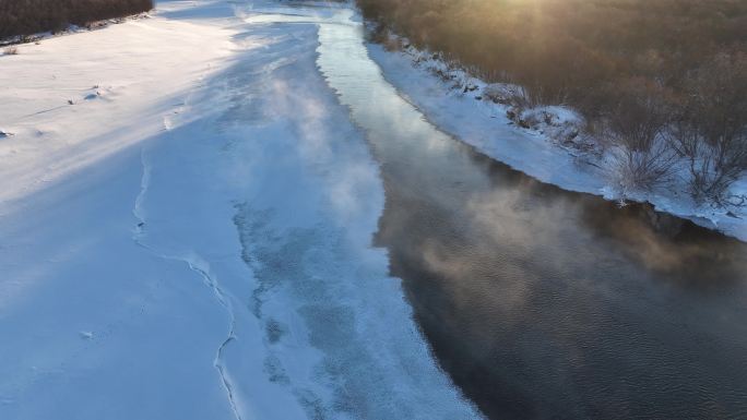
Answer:
[[[677,173],[720,202],[747,170],[747,1],[358,0],[522,108],[564,105],[633,188]],[[515,108],[520,108],[517,112]]]

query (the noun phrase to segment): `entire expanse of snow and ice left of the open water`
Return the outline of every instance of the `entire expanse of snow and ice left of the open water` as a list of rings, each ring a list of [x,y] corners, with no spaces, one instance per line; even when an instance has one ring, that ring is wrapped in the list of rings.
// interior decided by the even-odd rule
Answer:
[[[162,1],[0,57],[0,419],[470,419],[316,67],[344,5]]]

